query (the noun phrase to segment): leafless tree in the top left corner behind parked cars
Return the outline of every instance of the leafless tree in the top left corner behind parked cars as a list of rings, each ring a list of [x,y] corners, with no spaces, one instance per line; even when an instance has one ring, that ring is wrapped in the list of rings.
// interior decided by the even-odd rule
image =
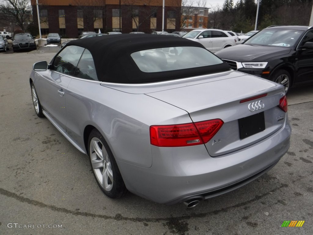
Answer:
[[[17,24],[24,31],[24,23],[31,21],[30,0],[0,1],[0,13],[2,21]]]

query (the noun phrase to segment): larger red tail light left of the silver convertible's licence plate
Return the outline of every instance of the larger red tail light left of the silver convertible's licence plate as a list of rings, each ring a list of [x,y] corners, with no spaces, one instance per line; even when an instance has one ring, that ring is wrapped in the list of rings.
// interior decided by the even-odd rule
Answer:
[[[222,127],[221,119],[197,123],[151,126],[150,143],[158,147],[183,147],[206,144]]]

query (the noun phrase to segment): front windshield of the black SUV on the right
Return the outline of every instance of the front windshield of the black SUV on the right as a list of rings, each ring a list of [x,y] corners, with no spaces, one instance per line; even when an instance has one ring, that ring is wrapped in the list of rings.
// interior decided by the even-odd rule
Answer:
[[[244,44],[292,47],[302,33],[303,31],[295,29],[263,29],[247,39]]]

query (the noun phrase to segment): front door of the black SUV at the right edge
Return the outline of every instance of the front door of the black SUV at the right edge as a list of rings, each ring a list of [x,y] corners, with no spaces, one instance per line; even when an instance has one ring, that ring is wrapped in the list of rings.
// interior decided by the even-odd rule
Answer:
[[[313,81],[313,48],[301,48],[306,42],[313,42],[313,30],[306,32],[297,48],[295,84]]]

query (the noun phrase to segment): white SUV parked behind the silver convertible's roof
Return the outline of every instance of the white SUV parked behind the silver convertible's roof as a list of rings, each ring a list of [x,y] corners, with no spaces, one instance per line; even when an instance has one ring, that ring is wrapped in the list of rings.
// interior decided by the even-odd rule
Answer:
[[[201,43],[213,53],[236,44],[233,36],[220,29],[194,29],[182,37]]]

